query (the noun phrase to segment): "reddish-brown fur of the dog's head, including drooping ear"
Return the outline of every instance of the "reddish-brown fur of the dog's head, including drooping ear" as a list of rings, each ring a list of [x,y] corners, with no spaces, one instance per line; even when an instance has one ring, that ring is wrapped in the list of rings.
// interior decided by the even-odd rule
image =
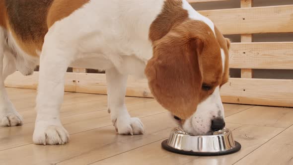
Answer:
[[[171,28],[153,42],[145,73],[156,100],[173,115],[187,119],[221,83],[220,45],[214,32],[197,20]],[[203,83],[212,89],[202,90]]]

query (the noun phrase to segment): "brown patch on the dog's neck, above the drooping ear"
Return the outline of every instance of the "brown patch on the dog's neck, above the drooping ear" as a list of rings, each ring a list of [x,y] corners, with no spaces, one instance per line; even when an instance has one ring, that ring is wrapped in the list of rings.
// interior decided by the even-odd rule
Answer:
[[[172,27],[188,19],[187,10],[182,8],[182,0],[166,0],[163,10],[149,28],[149,39],[156,41],[165,36]]]

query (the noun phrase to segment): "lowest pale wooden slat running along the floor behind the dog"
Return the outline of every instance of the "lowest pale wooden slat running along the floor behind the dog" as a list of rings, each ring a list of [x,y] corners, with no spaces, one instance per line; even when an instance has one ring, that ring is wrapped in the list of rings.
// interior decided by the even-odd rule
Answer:
[[[37,77],[37,73],[35,73]],[[37,79],[22,77],[15,73],[7,78],[6,86],[36,88]],[[74,78],[76,78],[74,80]],[[105,74],[67,73],[66,91],[106,94]],[[22,82],[22,83],[19,83]],[[129,78],[127,96],[153,97],[147,86],[147,80]],[[293,80],[239,79],[231,78],[221,88],[222,101],[226,103],[256,104],[293,107]]]

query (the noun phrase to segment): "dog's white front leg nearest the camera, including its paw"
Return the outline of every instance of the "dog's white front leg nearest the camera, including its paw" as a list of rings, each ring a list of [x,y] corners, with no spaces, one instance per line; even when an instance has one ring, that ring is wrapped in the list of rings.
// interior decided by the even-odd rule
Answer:
[[[69,141],[69,134],[60,121],[59,110],[64,96],[64,76],[74,53],[70,49],[60,48],[61,45],[53,36],[45,38],[36,99],[35,144],[58,145]]]

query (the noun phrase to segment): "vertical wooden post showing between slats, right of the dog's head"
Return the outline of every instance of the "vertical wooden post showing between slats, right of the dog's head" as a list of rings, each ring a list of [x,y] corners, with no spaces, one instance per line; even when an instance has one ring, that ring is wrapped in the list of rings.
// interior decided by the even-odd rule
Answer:
[[[253,0],[241,0],[241,8],[253,7]],[[243,18],[245,19],[245,18]],[[252,34],[241,34],[241,42],[253,42]],[[246,52],[243,52],[245,54]],[[253,78],[252,69],[241,69],[241,78]]]

